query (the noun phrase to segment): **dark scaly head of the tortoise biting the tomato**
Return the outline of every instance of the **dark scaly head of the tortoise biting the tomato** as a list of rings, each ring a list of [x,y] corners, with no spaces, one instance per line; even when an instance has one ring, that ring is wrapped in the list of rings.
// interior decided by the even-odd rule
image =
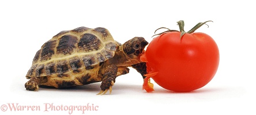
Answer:
[[[140,56],[145,52],[144,48],[148,45],[143,37],[134,37],[123,44],[123,52],[126,53],[130,59],[140,60]]]

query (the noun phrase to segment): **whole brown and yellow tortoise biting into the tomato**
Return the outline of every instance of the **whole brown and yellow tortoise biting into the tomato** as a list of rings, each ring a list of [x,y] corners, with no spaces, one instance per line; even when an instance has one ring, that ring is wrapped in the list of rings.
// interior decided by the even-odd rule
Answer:
[[[134,37],[123,45],[113,39],[106,28],[64,30],[44,43],[36,52],[28,70],[26,90],[39,86],[66,87],[101,82],[100,92],[112,91],[115,79],[133,67],[145,78],[146,64],[140,61],[148,42]]]

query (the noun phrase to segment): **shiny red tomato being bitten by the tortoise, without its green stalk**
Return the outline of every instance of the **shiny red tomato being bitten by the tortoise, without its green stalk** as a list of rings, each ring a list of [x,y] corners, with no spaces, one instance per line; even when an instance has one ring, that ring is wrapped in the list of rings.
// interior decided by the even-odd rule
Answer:
[[[153,39],[141,56],[147,72],[144,89],[153,91],[151,77],[164,89],[193,91],[205,86],[216,74],[219,66],[219,48],[205,33],[167,32]]]

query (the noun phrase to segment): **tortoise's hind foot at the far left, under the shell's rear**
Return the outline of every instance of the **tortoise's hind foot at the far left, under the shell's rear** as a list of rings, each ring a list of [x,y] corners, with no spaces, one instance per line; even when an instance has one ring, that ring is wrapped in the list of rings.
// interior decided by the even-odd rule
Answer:
[[[26,90],[37,91],[42,78],[32,77],[27,83],[25,83]]]

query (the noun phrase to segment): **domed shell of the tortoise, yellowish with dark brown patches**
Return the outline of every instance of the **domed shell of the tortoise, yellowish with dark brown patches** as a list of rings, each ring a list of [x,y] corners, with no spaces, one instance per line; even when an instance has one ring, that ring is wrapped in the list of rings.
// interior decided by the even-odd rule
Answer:
[[[99,82],[101,79],[90,78],[96,76],[91,74],[96,74],[101,62],[115,55],[119,45],[106,28],[80,27],[59,32],[36,52],[26,78],[45,77],[42,85],[58,88],[65,87],[65,83],[77,86]]]

